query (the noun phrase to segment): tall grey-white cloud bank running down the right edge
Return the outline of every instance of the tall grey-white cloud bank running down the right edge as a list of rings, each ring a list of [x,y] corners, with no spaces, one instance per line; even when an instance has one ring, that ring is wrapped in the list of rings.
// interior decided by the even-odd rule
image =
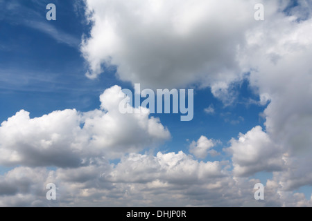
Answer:
[[[270,140],[275,151],[267,155],[268,162],[281,148],[284,171],[274,174],[285,190],[312,184],[311,26],[311,1],[298,1],[292,10],[276,12],[246,32],[247,44],[241,49],[240,63],[250,70],[250,85],[263,104],[269,102],[264,111],[267,139],[253,148],[266,152],[263,141]]]

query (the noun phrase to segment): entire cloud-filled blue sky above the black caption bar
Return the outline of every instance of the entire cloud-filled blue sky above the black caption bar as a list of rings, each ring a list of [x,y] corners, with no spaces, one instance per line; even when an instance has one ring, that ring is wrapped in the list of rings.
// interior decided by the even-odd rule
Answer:
[[[0,206],[312,206],[311,1],[0,8]],[[193,118],[122,114],[135,84]]]

